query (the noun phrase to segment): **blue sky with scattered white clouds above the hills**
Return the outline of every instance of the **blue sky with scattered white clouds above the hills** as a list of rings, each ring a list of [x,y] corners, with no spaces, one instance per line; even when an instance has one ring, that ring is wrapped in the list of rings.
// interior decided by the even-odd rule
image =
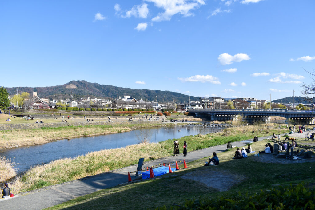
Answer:
[[[301,95],[315,1],[2,1],[0,85],[86,80],[193,96]]]

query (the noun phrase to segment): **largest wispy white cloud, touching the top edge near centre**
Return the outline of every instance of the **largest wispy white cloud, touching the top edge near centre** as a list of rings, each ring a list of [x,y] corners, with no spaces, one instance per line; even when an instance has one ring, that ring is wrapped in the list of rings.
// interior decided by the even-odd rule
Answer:
[[[152,2],[158,8],[162,8],[165,11],[159,13],[157,16],[152,18],[152,21],[163,21],[171,20],[175,14],[181,14],[184,17],[194,15],[191,10],[197,9],[201,5],[204,5],[204,0],[145,0]]]

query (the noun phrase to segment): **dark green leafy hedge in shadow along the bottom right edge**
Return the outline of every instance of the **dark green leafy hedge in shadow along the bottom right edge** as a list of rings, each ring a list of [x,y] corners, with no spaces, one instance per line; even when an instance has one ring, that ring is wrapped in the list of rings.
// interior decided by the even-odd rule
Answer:
[[[305,185],[306,183],[290,184],[261,190],[255,194],[242,194],[238,191],[238,193],[214,198],[199,197],[186,200],[184,204],[156,209],[314,209],[315,188],[307,188]]]

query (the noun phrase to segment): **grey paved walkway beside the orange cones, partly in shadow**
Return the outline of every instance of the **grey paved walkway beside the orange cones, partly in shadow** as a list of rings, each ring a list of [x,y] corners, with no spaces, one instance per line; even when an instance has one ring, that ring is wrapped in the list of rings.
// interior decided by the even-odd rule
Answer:
[[[271,136],[261,137],[259,140],[271,138]],[[247,143],[252,142],[252,139],[234,142],[232,145],[243,147]],[[145,162],[146,166],[154,166],[163,162],[175,162],[185,159],[186,162],[192,162],[207,156],[212,156],[212,152],[220,153],[225,151],[225,145],[218,145],[214,147],[205,148],[189,152],[186,157],[183,156],[169,156],[157,159],[150,162]],[[181,163],[183,164],[183,163]],[[174,166],[172,166],[174,167]],[[43,209],[60,204],[73,198],[93,193],[98,190],[117,186],[125,183],[128,180],[128,171],[135,171],[137,165],[118,169],[111,173],[103,173],[91,178],[75,180],[64,184],[57,184],[41,190],[30,191],[25,196],[16,195],[11,199],[0,199],[1,209]],[[134,174],[134,173],[133,173]],[[132,176],[134,179],[134,176]]]

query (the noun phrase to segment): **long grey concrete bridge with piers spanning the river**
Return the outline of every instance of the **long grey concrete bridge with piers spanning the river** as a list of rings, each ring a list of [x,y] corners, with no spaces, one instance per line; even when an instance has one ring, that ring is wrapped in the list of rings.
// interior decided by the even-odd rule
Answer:
[[[312,118],[315,117],[315,111],[311,110],[247,110],[247,109],[202,109],[202,110],[187,110],[190,115],[195,117],[207,118],[209,120],[237,120],[237,115],[243,116],[243,121],[269,122],[270,116],[281,116],[286,119],[310,124]]]

